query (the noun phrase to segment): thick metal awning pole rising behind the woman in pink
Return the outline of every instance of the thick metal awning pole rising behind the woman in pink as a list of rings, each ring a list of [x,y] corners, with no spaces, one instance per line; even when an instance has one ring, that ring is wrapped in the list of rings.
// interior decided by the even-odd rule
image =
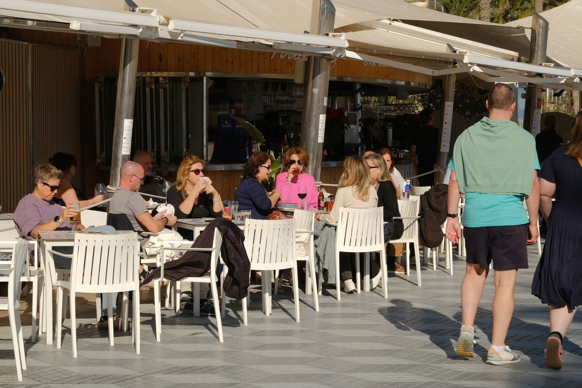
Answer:
[[[335,7],[329,0],[313,0],[311,34],[333,33]],[[329,88],[329,59],[310,56],[307,60],[305,102],[301,120],[300,146],[307,150],[311,162],[306,170],[315,181],[320,179],[323,142],[319,143],[320,118],[325,121],[324,99]]]

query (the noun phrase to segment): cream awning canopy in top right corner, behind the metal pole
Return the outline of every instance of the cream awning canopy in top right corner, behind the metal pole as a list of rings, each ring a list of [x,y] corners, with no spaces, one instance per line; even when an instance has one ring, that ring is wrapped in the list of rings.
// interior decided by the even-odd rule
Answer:
[[[582,67],[582,49],[580,48],[582,0],[570,0],[540,15],[549,22],[546,55],[562,66]],[[507,23],[507,25],[531,27],[531,16]],[[531,37],[530,33],[531,30],[527,30],[528,39]]]

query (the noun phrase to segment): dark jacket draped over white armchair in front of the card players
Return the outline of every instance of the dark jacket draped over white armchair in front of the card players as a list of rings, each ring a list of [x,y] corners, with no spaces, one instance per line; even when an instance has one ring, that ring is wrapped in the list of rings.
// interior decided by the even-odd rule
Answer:
[[[224,280],[224,292],[230,298],[242,299],[247,296],[251,270],[251,263],[244,248],[242,230],[225,218],[214,219],[194,240],[192,248],[211,248],[215,229],[222,232],[221,257],[228,268]],[[184,277],[198,277],[210,269],[210,252],[187,251],[179,259],[164,264],[164,278],[176,281]],[[158,278],[160,272],[159,267],[152,270],[141,284]]]

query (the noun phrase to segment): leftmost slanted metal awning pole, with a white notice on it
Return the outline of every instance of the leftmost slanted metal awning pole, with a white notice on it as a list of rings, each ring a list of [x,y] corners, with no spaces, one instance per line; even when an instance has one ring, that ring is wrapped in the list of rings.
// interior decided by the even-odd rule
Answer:
[[[113,148],[111,155],[111,173],[109,185],[119,186],[119,168],[129,160],[131,150],[131,130],[133,130],[133,106],[136,97],[137,55],[140,42],[137,39],[122,38],[119,58],[119,78],[117,80],[117,97],[115,101],[115,124],[113,127]],[[127,129],[130,129],[128,131]],[[124,136],[125,132],[125,136]],[[129,141],[129,150],[123,149],[124,138]]]

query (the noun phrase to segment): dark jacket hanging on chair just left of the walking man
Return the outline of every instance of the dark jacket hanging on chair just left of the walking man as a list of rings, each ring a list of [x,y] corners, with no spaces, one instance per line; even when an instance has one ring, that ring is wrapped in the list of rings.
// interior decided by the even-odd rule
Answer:
[[[441,245],[443,233],[441,225],[446,220],[446,200],[449,186],[439,183],[431,187],[420,196],[420,219],[418,230],[420,239],[427,248],[435,248]]]

